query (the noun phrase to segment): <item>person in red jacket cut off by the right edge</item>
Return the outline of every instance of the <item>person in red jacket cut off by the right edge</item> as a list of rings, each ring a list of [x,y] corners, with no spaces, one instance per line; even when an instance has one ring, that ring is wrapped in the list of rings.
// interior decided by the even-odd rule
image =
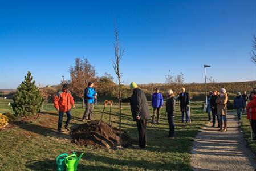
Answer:
[[[251,120],[251,129],[254,133],[253,140],[256,140],[256,90],[251,92],[251,101],[247,104],[247,119]]]

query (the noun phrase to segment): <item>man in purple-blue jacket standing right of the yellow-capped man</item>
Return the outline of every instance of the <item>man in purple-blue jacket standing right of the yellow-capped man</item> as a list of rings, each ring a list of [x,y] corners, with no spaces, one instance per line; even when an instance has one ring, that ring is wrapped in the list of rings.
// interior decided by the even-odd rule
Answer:
[[[152,117],[152,123],[155,123],[155,116],[157,111],[157,118],[156,122],[159,123],[160,118],[160,109],[162,108],[162,105],[164,103],[164,99],[162,98],[162,94],[159,92],[159,89],[155,89],[156,92],[152,95],[152,102],[151,105],[153,107],[153,117]]]

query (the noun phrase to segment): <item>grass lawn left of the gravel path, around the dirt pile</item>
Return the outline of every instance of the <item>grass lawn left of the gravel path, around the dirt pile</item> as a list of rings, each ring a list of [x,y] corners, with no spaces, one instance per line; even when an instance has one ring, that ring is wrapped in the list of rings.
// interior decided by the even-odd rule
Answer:
[[[47,111],[31,121],[18,122],[17,125],[0,131],[0,170],[55,170],[56,156],[74,151],[84,153],[78,170],[192,170],[190,151],[193,137],[207,120],[201,106],[192,105],[192,123],[188,124],[181,122],[181,113],[177,110],[174,140],[165,137],[169,127],[164,117],[165,109],[162,109],[160,124],[147,125],[145,150],[95,149],[92,146],[72,144],[70,135],[56,134],[57,112]],[[94,119],[100,118],[101,111],[102,106],[95,107]],[[109,106],[106,111],[109,111]],[[80,107],[72,110],[71,128],[82,123],[80,118],[83,112]],[[113,107],[112,124],[115,127],[119,120],[117,112],[118,109]],[[136,123],[132,121],[129,107],[123,107],[122,112],[122,129],[132,138],[138,139]],[[108,118],[109,115],[105,114],[103,120],[108,121]]]

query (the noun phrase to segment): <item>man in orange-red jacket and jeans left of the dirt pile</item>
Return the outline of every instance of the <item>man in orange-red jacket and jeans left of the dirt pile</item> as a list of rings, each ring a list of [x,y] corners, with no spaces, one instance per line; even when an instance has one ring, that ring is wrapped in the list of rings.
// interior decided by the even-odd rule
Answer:
[[[71,92],[68,91],[67,84],[64,84],[62,87],[62,91],[58,92],[57,95],[54,97],[54,107],[59,112],[58,134],[61,133],[64,113],[67,113],[65,128],[70,131],[70,127],[68,127],[68,124],[71,120],[71,105],[74,109],[76,108]]]

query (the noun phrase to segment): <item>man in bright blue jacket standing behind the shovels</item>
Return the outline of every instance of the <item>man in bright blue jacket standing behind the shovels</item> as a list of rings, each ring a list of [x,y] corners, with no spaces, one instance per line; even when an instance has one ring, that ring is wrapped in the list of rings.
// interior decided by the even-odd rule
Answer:
[[[91,120],[94,112],[94,100],[97,99],[97,93],[94,90],[94,83],[89,82],[88,87],[84,89],[84,104],[86,104],[86,111],[84,111],[83,121]]]

